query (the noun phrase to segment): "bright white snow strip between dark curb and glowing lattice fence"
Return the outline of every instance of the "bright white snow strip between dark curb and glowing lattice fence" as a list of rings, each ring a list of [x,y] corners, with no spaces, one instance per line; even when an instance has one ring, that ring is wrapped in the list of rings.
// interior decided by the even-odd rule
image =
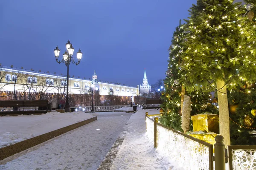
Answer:
[[[149,139],[145,133],[145,112],[159,114],[156,109],[139,109],[131,116],[111,170],[183,170],[154,148],[154,139]]]

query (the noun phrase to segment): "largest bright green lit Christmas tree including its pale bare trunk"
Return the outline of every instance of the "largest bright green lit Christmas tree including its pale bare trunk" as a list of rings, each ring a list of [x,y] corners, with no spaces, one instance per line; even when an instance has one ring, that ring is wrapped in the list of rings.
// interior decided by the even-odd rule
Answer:
[[[227,88],[256,76],[255,27],[245,24],[246,8],[233,0],[198,0],[204,5],[186,20],[181,82],[187,91],[217,91],[220,134],[230,145]],[[249,22],[249,21],[248,21]],[[252,29],[253,28],[253,29]]]

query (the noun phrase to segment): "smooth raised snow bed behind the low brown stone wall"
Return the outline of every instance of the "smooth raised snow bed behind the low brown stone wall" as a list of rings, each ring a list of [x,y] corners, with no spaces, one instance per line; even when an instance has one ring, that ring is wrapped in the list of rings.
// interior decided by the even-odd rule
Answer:
[[[92,117],[84,112],[0,116],[0,148]]]

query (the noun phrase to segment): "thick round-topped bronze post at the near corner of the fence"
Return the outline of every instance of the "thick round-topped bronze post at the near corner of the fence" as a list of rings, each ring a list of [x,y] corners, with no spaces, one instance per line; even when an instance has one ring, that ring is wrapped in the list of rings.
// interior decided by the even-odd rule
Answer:
[[[225,170],[225,145],[224,137],[217,135],[215,137],[216,143],[214,144],[214,161],[215,161],[215,170]]]

